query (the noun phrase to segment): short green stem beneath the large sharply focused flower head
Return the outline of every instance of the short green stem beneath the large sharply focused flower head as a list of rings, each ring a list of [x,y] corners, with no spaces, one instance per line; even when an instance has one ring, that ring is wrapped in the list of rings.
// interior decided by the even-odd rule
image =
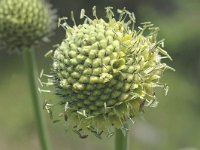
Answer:
[[[124,127],[128,129],[128,124]],[[128,131],[123,134],[121,129],[115,129],[115,150],[128,150]]]

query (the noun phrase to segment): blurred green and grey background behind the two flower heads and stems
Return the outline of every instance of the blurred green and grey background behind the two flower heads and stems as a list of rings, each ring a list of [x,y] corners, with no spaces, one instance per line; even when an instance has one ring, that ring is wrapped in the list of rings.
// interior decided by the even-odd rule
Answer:
[[[164,74],[170,89],[168,96],[158,92],[159,105],[138,117],[130,131],[130,150],[199,150],[200,149],[200,1],[199,0],[51,0],[58,16],[69,16],[74,10],[79,18],[81,8],[91,16],[104,16],[104,7],[126,7],[136,15],[137,24],[151,21],[160,27],[159,38],[165,38],[168,61],[176,72]],[[78,21],[77,21],[78,22]],[[38,68],[48,67],[51,60],[44,54],[61,42],[64,30],[56,29],[51,42],[36,49]],[[36,121],[20,54],[0,52],[0,150],[40,150]],[[44,111],[46,114],[46,112]],[[90,136],[80,139],[66,133],[64,124],[53,124],[46,115],[52,145],[56,150],[111,150],[113,138],[99,140]]]

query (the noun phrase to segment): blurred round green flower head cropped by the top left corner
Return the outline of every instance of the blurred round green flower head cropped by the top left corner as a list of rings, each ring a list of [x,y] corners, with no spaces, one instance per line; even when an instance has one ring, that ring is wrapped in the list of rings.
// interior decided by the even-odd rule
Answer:
[[[48,35],[54,12],[43,0],[0,1],[0,49],[30,47]]]

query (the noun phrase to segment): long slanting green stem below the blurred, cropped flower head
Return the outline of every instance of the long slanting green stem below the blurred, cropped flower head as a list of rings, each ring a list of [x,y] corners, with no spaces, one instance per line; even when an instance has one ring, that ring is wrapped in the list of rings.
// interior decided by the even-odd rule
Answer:
[[[39,140],[42,150],[50,150],[49,136],[47,131],[47,126],[45,124],[45,117],[42,114],[42,102],[38,95],[38,85],[37,85],[37,66],[35,62],[35,54],[33,49],[23,50],[24,63],[27,70],[27,76],[30,86],[30,92],[32,96],[32,104],[37,119],[37,128],[39,134]]]

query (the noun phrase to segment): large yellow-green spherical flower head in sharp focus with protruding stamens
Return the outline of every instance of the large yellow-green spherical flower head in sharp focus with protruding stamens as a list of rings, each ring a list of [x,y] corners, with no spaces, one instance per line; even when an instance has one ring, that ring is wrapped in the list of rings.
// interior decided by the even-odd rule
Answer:
[[[158,28],[147,22],[136,31],[134,14],[117,12],[119,20],[107,7],[104,20],[95,7],[95,19],[82,10],[84,23],[77,26],[72,15],[73,27],[61,19],[66,38],[53,51],[49,80],[74,130],[99,136],[112,127],[123,129],[145,106],[157,104],[155,87],[166,87],[159,80],[170,67],[161,59],[170,56],[161,48],[163,41],[156,40]]]

